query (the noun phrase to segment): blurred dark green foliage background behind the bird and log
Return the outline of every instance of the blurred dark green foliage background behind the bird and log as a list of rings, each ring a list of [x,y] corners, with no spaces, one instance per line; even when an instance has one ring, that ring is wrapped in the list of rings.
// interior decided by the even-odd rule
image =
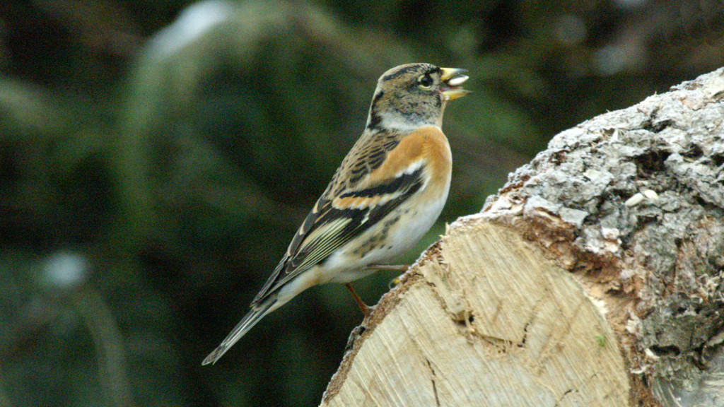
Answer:
[[[245,311],[363,128],[377,77],[465,67],[438,225],[560,130],[724,63],[720,1],[0,4],[0,406],[312,406],[340,285]],[[394,277],[355,283],[375,303]]]

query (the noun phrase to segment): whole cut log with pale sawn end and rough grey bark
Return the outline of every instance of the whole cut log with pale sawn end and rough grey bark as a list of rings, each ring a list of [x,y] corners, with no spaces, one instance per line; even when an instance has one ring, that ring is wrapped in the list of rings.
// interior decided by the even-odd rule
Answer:
[[[724,69],[555,136],[353,334],[323,406],[724,406]]]

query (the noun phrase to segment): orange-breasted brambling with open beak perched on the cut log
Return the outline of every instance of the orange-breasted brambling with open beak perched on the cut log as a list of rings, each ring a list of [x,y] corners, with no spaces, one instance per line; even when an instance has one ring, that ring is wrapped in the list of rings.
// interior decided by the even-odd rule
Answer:
[[[405,64],[377,82],[365,129],[342,160],[251,311],[202,364],[213,364],[266,314],[326,282],[365,277],[411,248],[442,211],[450,189],[447,101],[465,96],[466,70]],[[393,267],[394,268],[394,267]]]

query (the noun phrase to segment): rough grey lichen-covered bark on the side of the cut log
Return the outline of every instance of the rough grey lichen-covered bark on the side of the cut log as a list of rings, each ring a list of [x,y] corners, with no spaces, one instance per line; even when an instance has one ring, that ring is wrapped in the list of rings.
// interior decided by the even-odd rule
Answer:
[[[724,383],[723,122],[724,68],[560,133],[484,207],[555,242],[594,295],[628,308],[610,319],[633,379],[665,406],[724,403],[702,391]],[[535,226],[551,216],[570,246]]]

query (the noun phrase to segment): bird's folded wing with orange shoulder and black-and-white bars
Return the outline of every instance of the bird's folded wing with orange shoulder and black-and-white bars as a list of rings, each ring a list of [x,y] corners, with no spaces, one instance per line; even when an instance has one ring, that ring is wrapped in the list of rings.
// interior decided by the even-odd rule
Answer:
[[[438,127],[424,127],[406,135],[384,154],[359,154],[353,148],[253,303],[264,301],[286,282],[324,262],[424,188],[429,179],[426,168],[431,164],[426,143],[430,132],[445,138]],[[374,147],[371,150],[377,151]],[[376,167],[370,159],[379,161]],[[359,169],[367,172],[359,177]],[[350,177],[357,177],[357,182],[350,182]],[[342,188],[337,188],[340,185]]]

